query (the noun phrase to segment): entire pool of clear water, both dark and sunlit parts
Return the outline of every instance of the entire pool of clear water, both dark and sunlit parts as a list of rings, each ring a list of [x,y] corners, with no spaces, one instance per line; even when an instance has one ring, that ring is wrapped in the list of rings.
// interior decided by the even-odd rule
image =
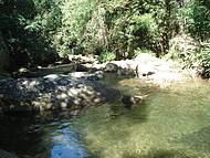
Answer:
[[[210,158],[210,83],[106,81],[148,97],[132,109],[116,101],[73,118],[3,122],[0,148],[20,158]]]

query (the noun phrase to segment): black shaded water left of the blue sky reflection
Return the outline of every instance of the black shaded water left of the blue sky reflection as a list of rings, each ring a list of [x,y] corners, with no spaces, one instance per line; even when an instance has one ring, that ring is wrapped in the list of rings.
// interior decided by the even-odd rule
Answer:
[[[4,116],[0,117],[0,148],[17,155],[32,155],[46,150],[42,145],[44,131],[35,123],[34,116]]]

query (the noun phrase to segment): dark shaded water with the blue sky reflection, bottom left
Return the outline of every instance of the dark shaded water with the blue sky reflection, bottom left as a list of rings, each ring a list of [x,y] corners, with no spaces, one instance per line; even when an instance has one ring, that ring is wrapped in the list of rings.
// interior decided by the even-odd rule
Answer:
[[[41,117],[0,118],[0,149],[15,152],[20,158],[91,157],[69,116]]]

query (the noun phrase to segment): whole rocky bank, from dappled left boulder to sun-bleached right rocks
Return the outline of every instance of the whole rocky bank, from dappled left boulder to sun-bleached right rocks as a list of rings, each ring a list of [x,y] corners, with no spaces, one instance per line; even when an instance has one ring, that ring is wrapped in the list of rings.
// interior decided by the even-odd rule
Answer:
[[[112,61],[98,64],[96,60],[77,56],[66,63],[36,72],[22,71],[15,77],[0,80],[0,109],[8,112],[40,112],[81,109],[86,106],[119,99],[120,91],[108,82],[101,83],[104,74],[136,77],[159,87],[196,78],[198,72],[182,70],[176,62],[139,54],[134,60]],[[75,57],[71,56],[71,60]],[[86,60],[86,61],[85,61]],[[72,62],[72,61],[70,61]]]

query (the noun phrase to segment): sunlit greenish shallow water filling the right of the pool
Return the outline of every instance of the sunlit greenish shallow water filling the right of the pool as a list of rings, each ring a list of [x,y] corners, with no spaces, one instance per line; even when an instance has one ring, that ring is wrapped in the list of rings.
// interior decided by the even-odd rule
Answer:
[[[122,91],[149,96],[132,109],[120,103],[91,107],[74,120],[87,149],[99,158],[210,157],[210,84],[165,88],[123,80]]]

